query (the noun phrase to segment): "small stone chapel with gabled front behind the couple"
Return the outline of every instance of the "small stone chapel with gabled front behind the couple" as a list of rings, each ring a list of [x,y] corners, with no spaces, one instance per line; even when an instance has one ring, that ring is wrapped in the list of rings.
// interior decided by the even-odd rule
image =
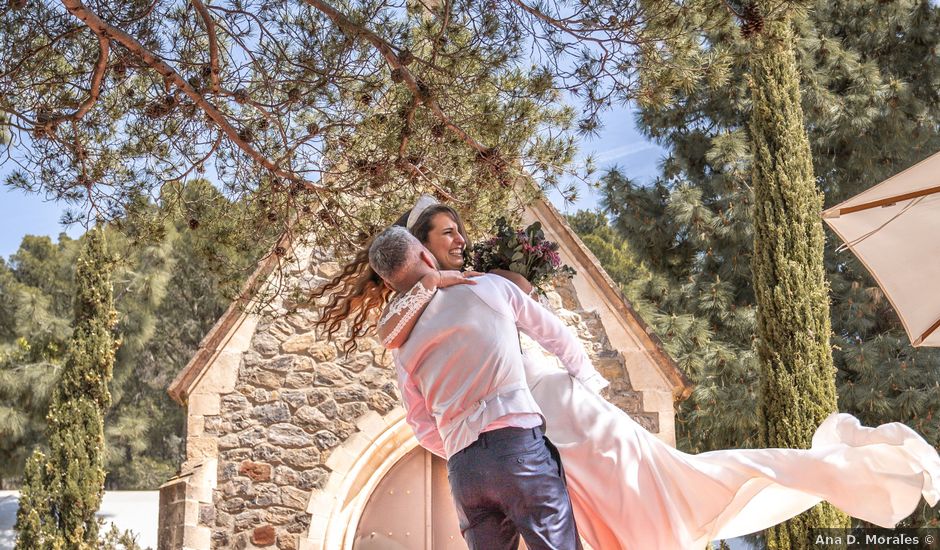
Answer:
[[[610,400],[675,444],[688,379],[594,255],[546,201],[530,204],[577,275],[549,292],[555,313],[611,381]],[[298,250],[292,288],[339,265]],[[275,275],[278,258],[252,276]],[[281,271],[280,273],[285,273]],[[243,296],[169,387],[186,408],[186,455],[160,488],[159,550],[465,549],[444,462],[418,447],[399,405],[391,356],[374,340],[348,356],[318,340],[317,312],[246,310]]]

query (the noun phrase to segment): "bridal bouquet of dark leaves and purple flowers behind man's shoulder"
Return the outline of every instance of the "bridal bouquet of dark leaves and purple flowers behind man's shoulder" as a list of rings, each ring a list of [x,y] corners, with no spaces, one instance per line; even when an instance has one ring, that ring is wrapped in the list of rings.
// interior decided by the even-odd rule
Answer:
[[[473,246],[473,269],[513,271],[532,283],[539,294],[545,294],[542,286],[555,276],[571,278],[575,274],[570,266],[562,265],[558,243],[545,238],[541,223],[514,229],[505,218],[496,220],[493,237]]]

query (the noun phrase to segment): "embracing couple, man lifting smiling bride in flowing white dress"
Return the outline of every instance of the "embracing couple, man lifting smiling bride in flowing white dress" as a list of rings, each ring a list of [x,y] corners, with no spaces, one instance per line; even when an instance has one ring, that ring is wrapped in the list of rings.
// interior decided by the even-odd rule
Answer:
[[[387,304],[378,334],[407,420],[447,459],[472,550],[515,550],[520,537],[568,550],[579,535],[594,550],[699,550],[824,500],[887,528],[940,500],[940,456],[898,422],[833,413],[809,449],[670,447],[599,394],[606,381],[529,298],[530,281],[458,271],[468,238],[455,210],[423,197],[396,225],[316,291],[331,293],[318,323],[329,336],[351,320],[355,337]]]

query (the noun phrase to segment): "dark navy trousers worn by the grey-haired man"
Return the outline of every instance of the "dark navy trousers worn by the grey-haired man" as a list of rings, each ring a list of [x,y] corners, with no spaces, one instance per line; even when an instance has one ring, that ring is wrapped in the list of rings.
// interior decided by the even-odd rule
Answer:
[[[447,461],[470,550],[579,550],[558,451],[542,428],[483,432]]]

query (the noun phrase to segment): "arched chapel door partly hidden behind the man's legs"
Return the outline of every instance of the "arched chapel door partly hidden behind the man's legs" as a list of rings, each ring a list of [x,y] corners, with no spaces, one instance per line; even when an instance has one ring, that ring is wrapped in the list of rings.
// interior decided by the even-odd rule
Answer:
[[[466,550],[447,483],[447,464],[421,447],[376,486],[353,550]]]

